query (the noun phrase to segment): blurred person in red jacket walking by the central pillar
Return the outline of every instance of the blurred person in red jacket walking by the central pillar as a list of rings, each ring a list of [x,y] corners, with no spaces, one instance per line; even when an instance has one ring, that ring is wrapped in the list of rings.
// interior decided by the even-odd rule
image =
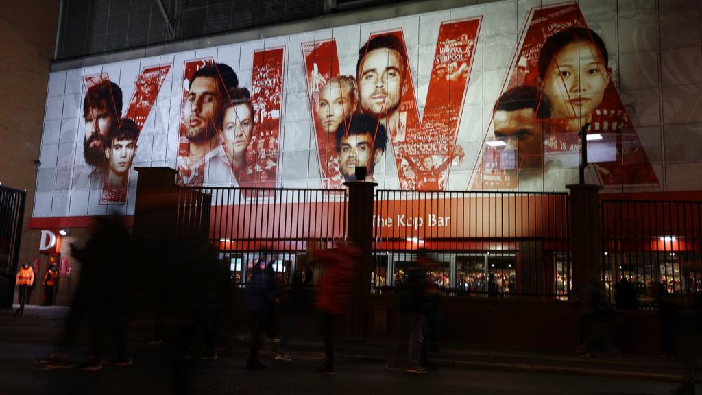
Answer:
[[[323,276],[317,292],[317,309],[322,315],[325,361],[318,373],[334,374],[333,321],[346,309],[351,296],[360,252],[350,242],[336,242],[332,250],[313,250],[322,265]]]

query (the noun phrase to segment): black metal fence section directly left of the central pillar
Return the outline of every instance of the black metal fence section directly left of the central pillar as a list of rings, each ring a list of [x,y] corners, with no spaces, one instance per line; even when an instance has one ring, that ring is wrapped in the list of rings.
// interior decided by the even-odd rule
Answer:
[[[346,238],[347,195],[343,189],[180,188],[179,218],[218,247],[234,284],[246,284],[258,259],[273,261],[279,284],[296,271],[312,273],[317,284],[319,268],[308,252],[312,244],[330,247]]]

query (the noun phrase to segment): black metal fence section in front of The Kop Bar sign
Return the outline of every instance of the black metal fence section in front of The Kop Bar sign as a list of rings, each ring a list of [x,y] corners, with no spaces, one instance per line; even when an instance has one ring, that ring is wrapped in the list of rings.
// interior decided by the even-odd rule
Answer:
[[[447,294],[570,294],[567,193],[378,190],[373,228],[376,292],[403,283],[426,249]]]

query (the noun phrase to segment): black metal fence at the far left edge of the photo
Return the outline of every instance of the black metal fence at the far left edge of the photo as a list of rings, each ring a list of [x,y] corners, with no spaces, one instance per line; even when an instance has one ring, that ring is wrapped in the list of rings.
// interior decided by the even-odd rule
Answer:
[[[27,192],[0,185],[0,309],[11,309]]]

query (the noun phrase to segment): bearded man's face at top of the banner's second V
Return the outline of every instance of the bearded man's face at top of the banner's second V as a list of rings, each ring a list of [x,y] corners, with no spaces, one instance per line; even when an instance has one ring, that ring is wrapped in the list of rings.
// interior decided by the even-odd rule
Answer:
[[[366,53],[358,75],[362,112],[374,117],[392,115],[402,97],[402,56],[390,48]]]

